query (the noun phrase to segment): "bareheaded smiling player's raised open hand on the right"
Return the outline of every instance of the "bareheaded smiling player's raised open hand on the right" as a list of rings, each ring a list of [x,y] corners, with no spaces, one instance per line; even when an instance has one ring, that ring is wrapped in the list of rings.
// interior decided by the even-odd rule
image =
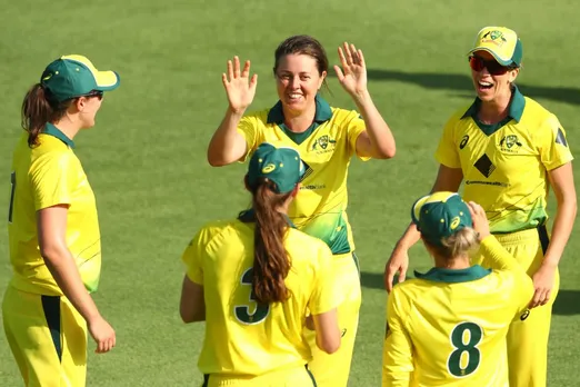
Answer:
[[[340,85],[351,96],[361,95],[367,91],[367,64],[364,63],[364,57],[362,51],[358,50],[354,44],[344,42],[342,47],[338,48],[340,67],[334,66],[337,77]]]

